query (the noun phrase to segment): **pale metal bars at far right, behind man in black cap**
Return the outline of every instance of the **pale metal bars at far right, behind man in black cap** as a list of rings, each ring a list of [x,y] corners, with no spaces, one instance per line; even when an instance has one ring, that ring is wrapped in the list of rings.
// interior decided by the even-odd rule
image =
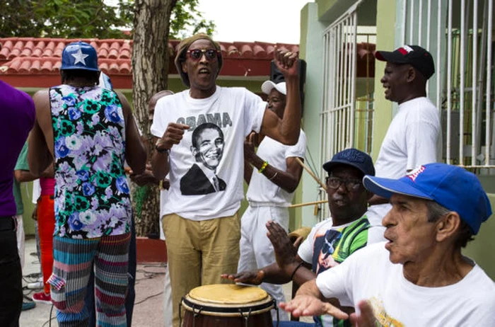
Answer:
[[[401,4],[402,44],[436,48],[436,80],[429,85],[429,96],[441,110],[443,160],[467,168],[495,168],[493,0]]]

